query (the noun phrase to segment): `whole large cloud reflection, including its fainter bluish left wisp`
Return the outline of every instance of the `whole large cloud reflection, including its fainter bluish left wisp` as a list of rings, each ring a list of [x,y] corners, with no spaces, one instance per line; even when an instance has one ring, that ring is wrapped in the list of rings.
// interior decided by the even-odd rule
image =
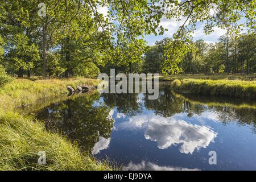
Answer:
[[[192,154],[200,147],[206,148],[214,142],[217,133],[207,126],[192,125],[180,119],[162,118],[150,113],[129,118],[129,122],[117,123],[117,129],[135,130],[146,128],[144,137],[158,143],[164,149],[172,144],[181,144],[180,152]]]

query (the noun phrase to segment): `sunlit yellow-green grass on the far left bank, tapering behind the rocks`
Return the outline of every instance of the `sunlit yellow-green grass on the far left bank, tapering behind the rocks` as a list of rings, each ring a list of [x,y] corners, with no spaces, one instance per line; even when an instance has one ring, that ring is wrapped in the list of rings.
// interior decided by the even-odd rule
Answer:
[[[27,105],[40,98],[59,96],[67,92],[67,85],[97,85],[98,80],[90,78],[69,78],[49,80],[16,79],[0,88],[0,110],[10,111],[15,107]]]

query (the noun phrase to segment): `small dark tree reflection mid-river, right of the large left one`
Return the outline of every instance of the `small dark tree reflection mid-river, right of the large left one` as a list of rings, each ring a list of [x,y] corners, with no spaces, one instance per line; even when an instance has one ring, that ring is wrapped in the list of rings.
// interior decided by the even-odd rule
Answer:
[[[120,93],[120,94],[102,94],[104,102],[109,107],[117,107],[118,113],[123,113],[127,116],[133,116],[142,112],[143,105],[137,102],[138,94]]]

